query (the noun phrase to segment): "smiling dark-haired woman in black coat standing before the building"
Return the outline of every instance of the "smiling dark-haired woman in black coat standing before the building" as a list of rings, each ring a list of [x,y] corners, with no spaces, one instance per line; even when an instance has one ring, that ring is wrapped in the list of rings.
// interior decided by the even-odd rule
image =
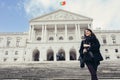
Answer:
[[[90,29],[85,29],[84,39],[80,46],[80,67],[84,67],[84,63],[87,65],[91,74],[91,80],[98,80],[97,67],[103,57],[100,53],[100,43],[95,34]]]

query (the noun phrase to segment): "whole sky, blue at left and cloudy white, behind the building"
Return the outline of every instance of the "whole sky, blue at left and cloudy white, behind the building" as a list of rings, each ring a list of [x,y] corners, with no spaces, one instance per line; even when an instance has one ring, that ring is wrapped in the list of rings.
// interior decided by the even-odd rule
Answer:
[[[0,32],[27,32],[30,19],[58,9],[93,18],[94,29],[120,30],[120,0],[0,0]]]

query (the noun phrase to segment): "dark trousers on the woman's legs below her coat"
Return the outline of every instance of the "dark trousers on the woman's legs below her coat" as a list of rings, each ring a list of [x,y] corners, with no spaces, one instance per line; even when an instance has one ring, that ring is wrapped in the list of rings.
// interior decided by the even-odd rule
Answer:
[[[86,65],[88,67],[88,70],[91,74],[91,80],[98,80],[97,78],[97,67],[98,65],[94,62],[86,62]]]

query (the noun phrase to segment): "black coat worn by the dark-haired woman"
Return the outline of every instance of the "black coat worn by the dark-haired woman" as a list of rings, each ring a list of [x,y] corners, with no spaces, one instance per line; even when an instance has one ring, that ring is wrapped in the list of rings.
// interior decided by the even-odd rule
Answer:
[[[85,40],[82,40],[81,42],[81,46],[80,46],[80,50],[79,50],[79,53],[80,53],[80,58],[82,59],[84,54],[83,54],[83,44],[90,44],[90,47],[87,49],[87,51],[91,51],[93,53],[93,56],[94,56],[94,60],[96,62],[99,62],[99,61],[102,61],[103,60],[103,57],[100,53],[100,43],[98,41],[98,39],[94,36],[92,37],[85,37]]]

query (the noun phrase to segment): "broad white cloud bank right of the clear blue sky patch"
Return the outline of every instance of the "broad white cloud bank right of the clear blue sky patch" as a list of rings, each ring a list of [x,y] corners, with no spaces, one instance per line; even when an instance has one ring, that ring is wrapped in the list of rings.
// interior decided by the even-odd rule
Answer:
[[[24,8],[29,18],[64,9],[93,18],[93,28],[120,29],[120,0],[65,0],[65,6],[61,1],[26,0]]]

